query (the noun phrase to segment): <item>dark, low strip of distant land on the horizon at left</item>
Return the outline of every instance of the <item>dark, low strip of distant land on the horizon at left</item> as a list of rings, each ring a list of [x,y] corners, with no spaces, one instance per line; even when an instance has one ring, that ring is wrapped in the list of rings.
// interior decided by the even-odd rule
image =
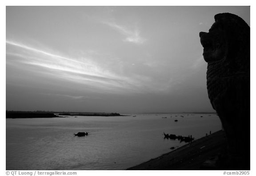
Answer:
[[[61,116],[60,116],[61,115]],[[64,115],[68,116],[127,116],[120,115],[118,113],[88,113],[88,114],[53,114],[53,113],[38,113],[38,112],[28,112],[28,111],[6,111],[6,119],[31,119],[31,118],[65,118]],[[67,116],[66,116],[67,117]]]

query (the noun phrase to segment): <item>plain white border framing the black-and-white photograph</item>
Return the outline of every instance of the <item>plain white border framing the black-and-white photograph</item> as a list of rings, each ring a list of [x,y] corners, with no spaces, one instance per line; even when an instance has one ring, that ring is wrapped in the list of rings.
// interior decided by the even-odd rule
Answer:
[[[5,6],[14,6],[14,5],[22,5],[22,6],[31,6],[31,5],[63,5],[63,6],[81,6],[81,5],[86,5],[86,6],[114,6],[114,5],[122,5],[122,6],[128,6],[128,5],[136,5],[136,6],[159,6],[159,5],[186,5],[186,6],[200,6],[200,5],[215,5],[215,6],[231,6],[231,5],[235,5],[235,6],[246,6],[246,5],[251,5],[251,22],[250,22],[250,26],[254,27],[254,16],[255,16],[255,11],[254,11],[254,3],[252,0],[240,0],[240,1],[224,1],[224,0],[212,0],[212,2],[210,1],[202,1],[202,0],[183,0],[181,1],[177,1],[177,2],[173,2],[171,0],[150,0],[150,1],[146,1],[146,0],[126,0],[126,1],[121,1],[121,0],[90,0],[90,1],[86,1],[86,0],[3,0],[1,1],[1,6],[0,6],[0,13],[1,13],[1,82],[3,83],[1,85],[1,112],[5,111],[5,79],[6,79],[6,70],[5,70]],[[3,25],[4,24],[4,25]],[[255,57],[254,57],[254,41],[255,41],[255,34],[254,32],[252,32],[251,35],[251,172],[250,175],[252,175],[252,170],[254,170],[253,168],[253,164],[254,162],[254,158],[255,158],[255,152],[254,152],[254,148],[255,148],[255,142],[254,142],[254,134],[255,134],[255,118],[253,117],[253,109],[255,108],[255,103],[254,100],[256,99],[254,90],[255,90],[255,81],[254,81],[254,76],[255,76]],[[2,140],[2,145],[1,145],[1,160],[0,160],[0,168],[3,174],[5,174],[5,115],[3,115],[3,117],[1,117],[1,140]],[[196,174],[197,176],[220,176],[223,175],[222,171],[78,171],[78,175],[85,175],[85,174],[91,174],[91,175],[120,175],[122,174],[122,176],[130,176],[131,174],[140,174],[140,175],[155,175],[155,174],[163,174],[163,176],[167,175],[167,174],[175,174],[175,175],[194,175]]]

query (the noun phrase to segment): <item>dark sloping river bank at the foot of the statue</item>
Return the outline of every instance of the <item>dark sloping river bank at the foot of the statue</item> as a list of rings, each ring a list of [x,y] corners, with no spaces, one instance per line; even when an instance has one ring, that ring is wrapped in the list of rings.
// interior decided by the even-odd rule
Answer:
[[[216,160],[226,145],[220,130],[127,170],[222,170],[216,168]]]

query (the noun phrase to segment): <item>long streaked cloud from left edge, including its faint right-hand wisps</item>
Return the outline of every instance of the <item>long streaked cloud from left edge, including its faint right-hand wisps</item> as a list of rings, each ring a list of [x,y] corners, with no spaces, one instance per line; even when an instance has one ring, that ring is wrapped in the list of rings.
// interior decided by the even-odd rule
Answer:
[[[84,88],[85,92],[122,95],[147,94],[164,91],[169,84],[172,84],[165,81],[164,72],[131,72],[127,67],[123,69],[122,67],[127,65],[118,63],[116,59],[115,62],[112,62],[113,64],[108,65],[99,60],[98,55],[95,54],[88,55],[88,53],[77,52],[76,57],[70,57],[63,53],[56,54],[57,52],[54,50],[49,52],[45,48],[39,49],[35,46],[8,39],[6,44],[6,65],[14,68],[12,70],[23,69],[25,72],[29,70],[29,72],[35,73],[31,77],[36,78],[37,75],[40,75],[51,81],[56,80],[60,84],[64,81],[63,84],[79,86],[79,88]],[[131,64],[132,70],[142,70],[143,68],[155,70],[158,67],[158,62],[151,61],[147,63],[145,65],[133,63]],[[122,69],[119,70],[119,68]],[[124,70],[128,71],[124,72]],[[12,75],[13,73],[8,72],[7,74]],[[33,84],[36,84],[36,82]],[[74,97],[81,98],[80,96]]]

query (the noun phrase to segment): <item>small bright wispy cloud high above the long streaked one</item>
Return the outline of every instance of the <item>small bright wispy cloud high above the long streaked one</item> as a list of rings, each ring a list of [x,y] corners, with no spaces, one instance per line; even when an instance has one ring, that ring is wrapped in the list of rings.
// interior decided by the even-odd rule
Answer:
[[[111,23],[111,22],[102,22],[102,23],[108,25],[109,27],[112,27],[112,29],[124,35],[125,37],[125,39],[123,40],[124,42],[143,44],[146,41],[146,39],[140,36],[140,31],[138,29],[130,30],[127,27],[118,25],[116,23]]]

